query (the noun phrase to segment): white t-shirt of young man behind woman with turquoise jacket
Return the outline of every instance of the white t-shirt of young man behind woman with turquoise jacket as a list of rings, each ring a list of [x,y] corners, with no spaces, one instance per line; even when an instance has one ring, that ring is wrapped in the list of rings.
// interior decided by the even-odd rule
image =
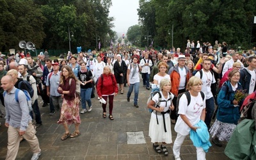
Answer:
[[[205,98],[210,99],[213,97],[212,92],[211,92],[211,84],[216,83],[214,76],[212,76],[211,72],[204,72],[202,70],[203,76],[202,76],[202,92],[205,93]],[[200,72],[196,72],[195,74],[196,77],[200,77]]]

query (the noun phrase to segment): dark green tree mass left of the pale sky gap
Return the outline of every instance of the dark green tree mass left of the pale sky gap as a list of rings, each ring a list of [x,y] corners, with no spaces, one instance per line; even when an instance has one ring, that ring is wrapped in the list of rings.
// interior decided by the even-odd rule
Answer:
[[[97,38],[115,38],[111,5],[111,0],[0,0],[0,51],[19,49],[20,40],[41,49],[68,49],[68,27],[73,49],[95,49]]]

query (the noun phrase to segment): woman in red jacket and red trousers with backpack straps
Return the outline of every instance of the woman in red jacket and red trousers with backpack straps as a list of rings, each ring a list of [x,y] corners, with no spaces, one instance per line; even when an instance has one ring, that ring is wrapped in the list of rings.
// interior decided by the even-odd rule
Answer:
[[[107,99],[109,100],[108,118],[110,120],[114,120],[114,117],[112,115],[113,100],[114,100],[114,95],[117,95],[118,93],[118,86],[116,84],[115,76],[111,74],[111,70],[108,66],[104,67],[103,74],[98,79],[97,93],[100,99],[104,99],[106,101]],[[106,104],[102,103],[103,118],[106,118],[107,116],[106,107],[107,107],[107,103]]]

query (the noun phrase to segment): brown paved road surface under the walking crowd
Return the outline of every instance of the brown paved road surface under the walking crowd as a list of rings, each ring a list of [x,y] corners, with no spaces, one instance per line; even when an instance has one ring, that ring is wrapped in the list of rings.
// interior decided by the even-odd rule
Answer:
[[[125,88],[127,93],[128,88]],[[64,132],[63,126],[57,124],[59,112],[55,115],[49,115],[49,106],[42,108],[42,99],[39,99],[40,111],[42,114],[43,125],[38,128],[37,136],[40,141],[42,155],[40,159],[174,159],[172,154],[173,144],[167,145],[169,156],[157,154],[152,148],[152,143],[148,137],[148,125],[150,114],[146,106],[149,90],[140,86],[139,106],[134,108],[133,100],[127,102],[126,95],[118,94],[114,100],[113,116],[115,120],[102,118],[102,108],[97,98],[92,99],[93,109],[90,113],[81,115],[81,136],[77,138],[68,138],[61,141],[61,135]],[[133,94],[132,94],[133,96]],[[0,119],[4,124],[4,119]],[[177,134],[173,130],[172,140],[175,141]],[[7,129],[2,125],[0,127],[0,159],[6,156]],[[70,125],[70,131],[74,131],[74,125]],[[134,143],[127,144],[127,132],[140,132],[145,138],[145,143],[140,136],[132,138]],[[207,160],[225,160],[228,159],[223,153],[226,144],[223,147],[212,145],[206,154]],[[180,152],[182,159],[196,159],[196,149],[193,147],[189,136],[184,141]],[[17,159],[31,159],[32,153],[26,141],[20,143]]]

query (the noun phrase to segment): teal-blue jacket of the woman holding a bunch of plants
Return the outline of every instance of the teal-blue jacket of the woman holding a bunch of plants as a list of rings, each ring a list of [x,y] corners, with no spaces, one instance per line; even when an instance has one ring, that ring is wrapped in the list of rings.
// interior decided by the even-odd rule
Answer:
[[[237,124],[237,121],[240,118],[239,107],[234,107],[233,100],[235,92],[232,90],[232,86],[230,81],[226,81],[221,86],[221,90],[218,93],[218,112],[217,112],[217,120],[223,123],[228,124]],[[236,90],[243,90],[243,87],[240,83],[237,84]],[[239,106],[243,104],[243,100],[239,102]]]

